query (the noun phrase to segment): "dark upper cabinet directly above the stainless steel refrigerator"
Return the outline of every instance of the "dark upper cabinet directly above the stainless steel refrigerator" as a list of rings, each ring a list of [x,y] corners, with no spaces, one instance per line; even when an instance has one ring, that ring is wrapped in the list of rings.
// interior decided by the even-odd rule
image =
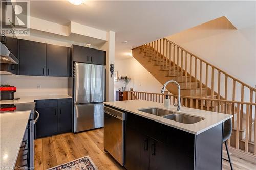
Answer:
[[[72,45],[73,62],[105,65],[106,52],[94,48]]]

